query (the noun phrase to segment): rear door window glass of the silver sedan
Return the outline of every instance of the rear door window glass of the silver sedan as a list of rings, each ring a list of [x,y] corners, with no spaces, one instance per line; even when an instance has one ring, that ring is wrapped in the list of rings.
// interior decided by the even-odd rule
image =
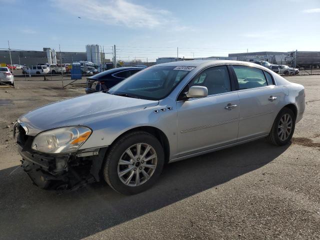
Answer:
[[[266,86],[267,81],[261,69],[250,66],[233,65],[239,83],[239,89]]]

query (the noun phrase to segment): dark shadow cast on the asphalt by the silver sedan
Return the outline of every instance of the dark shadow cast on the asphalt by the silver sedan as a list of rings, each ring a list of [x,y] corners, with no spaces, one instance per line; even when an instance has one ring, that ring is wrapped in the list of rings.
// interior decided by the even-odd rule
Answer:
[[[287,146],[264,139],[165,165],[157,183],[131,196],[94,183],[59,193],[31,184],[15,167],[0,170],[1,239],[78,239],[216,187],[270,163]],[[10,175],[9,175],[10,174]]]

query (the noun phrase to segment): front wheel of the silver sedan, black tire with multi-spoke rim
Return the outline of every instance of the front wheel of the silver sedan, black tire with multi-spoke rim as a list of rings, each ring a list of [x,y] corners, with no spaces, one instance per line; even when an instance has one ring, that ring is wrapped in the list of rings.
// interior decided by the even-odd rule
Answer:
[[[140,154],[137,154],[138,144],[140,144]],[[148,146],[151,148],[143,157]],[[132,153],[131,157],[126,153],[128,149]],[[141,159],[137,158],[138,156]],[[154,157],[149,160],[143,160],[152,156]],[[118,164],[120,158],[122,159],[121,164]],[[127,162],[130,164],[125,164]],[[111,145],[105,156],[102,171],[104,180],[110,187],[119,193],[131,195],[150,188],[159,177],[163,163],[164,153],[161,143],[148,132],[134,131],[125,134]],[[125,171],[127,172],[120,176]]]

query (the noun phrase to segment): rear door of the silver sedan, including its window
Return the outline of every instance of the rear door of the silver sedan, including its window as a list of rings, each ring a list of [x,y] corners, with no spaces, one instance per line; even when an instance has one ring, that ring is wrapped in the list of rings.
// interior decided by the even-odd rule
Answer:
[[[260,68],[233,65],[239,95],[238,141],[268,134],[284,98],[283,88]]]

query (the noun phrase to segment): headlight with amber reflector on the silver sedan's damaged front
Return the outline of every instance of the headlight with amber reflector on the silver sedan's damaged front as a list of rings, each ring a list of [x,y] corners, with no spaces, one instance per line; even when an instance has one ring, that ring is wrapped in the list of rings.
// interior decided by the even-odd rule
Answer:
[[[92,130],[85,126],[68,126],[43,131],[35,136],[31,148],[45,153],[76,151],[91,132]]]

